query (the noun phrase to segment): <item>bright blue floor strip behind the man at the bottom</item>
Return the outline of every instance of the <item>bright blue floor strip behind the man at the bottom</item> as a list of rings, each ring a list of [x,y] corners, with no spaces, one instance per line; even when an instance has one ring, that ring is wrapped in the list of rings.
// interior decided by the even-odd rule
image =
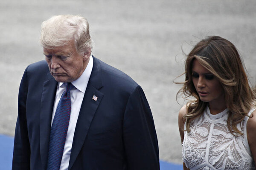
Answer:
[[[0,135],[0,170],[12,169],[12,152],[14,138]],[[160,161],[160,170],[183,170],[182,165]]]

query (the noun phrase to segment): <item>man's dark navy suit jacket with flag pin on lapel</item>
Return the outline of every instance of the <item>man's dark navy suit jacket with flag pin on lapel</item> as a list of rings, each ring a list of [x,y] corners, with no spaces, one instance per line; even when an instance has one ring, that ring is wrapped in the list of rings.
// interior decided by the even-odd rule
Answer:
[[[93,62],[68,169],[159,170],[157,135],[142,88],[122,71],[95,57]],[[12,170],[46,170],[57,84],[45,61],[26,68]]]

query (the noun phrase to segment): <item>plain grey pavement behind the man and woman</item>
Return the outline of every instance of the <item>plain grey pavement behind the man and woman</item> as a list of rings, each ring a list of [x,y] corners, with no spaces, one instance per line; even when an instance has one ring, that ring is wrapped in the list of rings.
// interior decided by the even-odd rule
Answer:
[[[27,65],[44,59],[41,22],[52,15],[86,17],[93,54],[137,81],[154,116],[160,159],[181,163],[176,101],[184,55],[206,36],[218,35],[239,49],[256,84],[255,0],[1,0],[0,133],[14,136],[17,94]],[[176,79],[182,81],[183,77]]]

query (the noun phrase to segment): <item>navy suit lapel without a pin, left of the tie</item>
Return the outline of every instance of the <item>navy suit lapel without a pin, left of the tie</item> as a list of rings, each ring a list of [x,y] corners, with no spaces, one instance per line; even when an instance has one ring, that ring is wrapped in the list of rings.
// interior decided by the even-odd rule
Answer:
[[[58,85],[58,82],[56,82],[50,74],[48,76],[51,77],[51,79],[44,82],[40,112],[40,153],[44,170],[46,170],[47,166],[52,109]]]

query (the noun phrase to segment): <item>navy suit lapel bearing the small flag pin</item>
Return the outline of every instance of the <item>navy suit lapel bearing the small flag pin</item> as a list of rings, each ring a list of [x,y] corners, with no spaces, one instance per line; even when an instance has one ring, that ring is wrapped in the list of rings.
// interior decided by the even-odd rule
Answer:
[[[70,162],[68,167],[69,170],[73,166],[81,150],[81,147],[84,144],[84,140],[90,128],[93,116],[104,96],[104,94],[99,91],[99,88],[102,87],[100,70],[101,68],[99,61],[93,57],[93,70],[87,84],[84,99],[79,112],[79,117],[76,123],[76,130],[73,138]],[[97,97],[97,99],[95,100],[93,99],[94,95]]]

